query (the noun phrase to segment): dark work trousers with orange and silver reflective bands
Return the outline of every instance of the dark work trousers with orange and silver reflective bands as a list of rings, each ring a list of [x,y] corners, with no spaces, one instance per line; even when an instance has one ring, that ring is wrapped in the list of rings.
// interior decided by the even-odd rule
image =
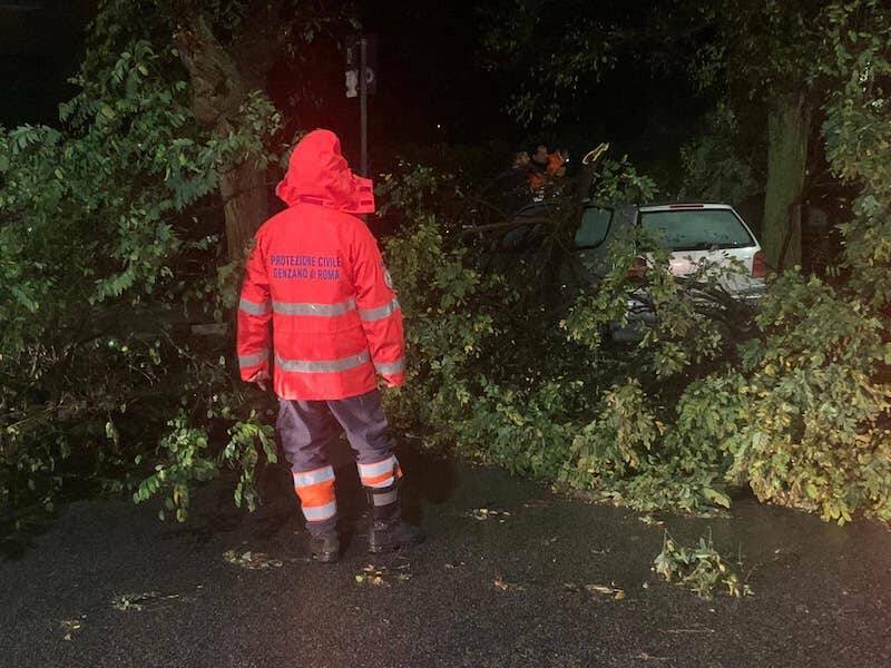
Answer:
[[[313,534],[334,529],[337,501],[329,453],[341,431],[355,453],[359,475],[370,492],[375,519],[398,517],[396,481],[402,472],[392,451],[386,416],[376,390],[330,401],[280,400],[276,430],[291,462],[294,490]]]

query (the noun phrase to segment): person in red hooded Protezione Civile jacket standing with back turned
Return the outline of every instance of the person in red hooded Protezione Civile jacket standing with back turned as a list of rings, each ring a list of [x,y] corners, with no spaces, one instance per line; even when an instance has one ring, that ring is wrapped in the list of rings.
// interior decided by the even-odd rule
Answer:
[[[276,430],[291,462],[313,558],[336,561],[337,501],[327,455],[341,430],[372,504],[371,552],[422,540],[401,519],[402,471],[392,452],[376,374],[405,382],[402,312],[378,243],[355,214],[374,212],[329,130],[294,148],[276,194],[287,208],[256,233],[238,305],[244,381],[280,400]],[[270,332],[272,324],[272,333]]]

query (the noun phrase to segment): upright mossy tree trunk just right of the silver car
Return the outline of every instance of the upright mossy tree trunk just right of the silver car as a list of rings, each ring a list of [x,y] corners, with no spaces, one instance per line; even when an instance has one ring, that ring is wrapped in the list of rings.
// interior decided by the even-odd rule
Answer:
[[[801,198],[807,167],[811,107],[805,91],[777,98],[767,116],[767,187],[762,242],[777,271],[800,265]]]

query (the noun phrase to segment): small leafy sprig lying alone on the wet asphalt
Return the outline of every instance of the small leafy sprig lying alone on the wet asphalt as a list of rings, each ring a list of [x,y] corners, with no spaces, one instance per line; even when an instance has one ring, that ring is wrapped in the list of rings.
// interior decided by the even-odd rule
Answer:
[[[662,552],[653,561],[653,570],[666,582],[675,582],[705,599],[711,599],[716,590],[735,598],[754,593],[715,550],[711,533],[708,538],[699,538],[695,547],[686,547],[675,542],[666,532]]]

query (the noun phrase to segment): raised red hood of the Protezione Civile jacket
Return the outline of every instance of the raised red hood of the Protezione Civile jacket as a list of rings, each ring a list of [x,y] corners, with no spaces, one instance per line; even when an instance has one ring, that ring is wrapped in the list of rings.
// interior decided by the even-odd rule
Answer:
[[[306,203],[347,214],[374,213],[371,179],[353,175],[331,130],[313,130],[297,144],[275,194],[287,206]]]

